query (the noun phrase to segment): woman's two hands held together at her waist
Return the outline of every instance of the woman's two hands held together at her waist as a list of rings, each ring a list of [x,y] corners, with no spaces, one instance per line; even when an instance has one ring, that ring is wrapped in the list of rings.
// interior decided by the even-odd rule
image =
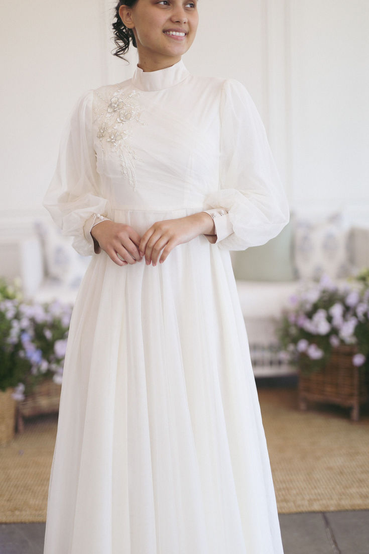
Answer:
[[[135,264],[143,257],[147,265],[156,265],[158,261],[163,263],[178,244],[189,242],[202,233],[214,234],[213,219],[206,212],[158,221],[142,237],[130,225],[109,220],[91,229],[100,248],[120,266]]]

